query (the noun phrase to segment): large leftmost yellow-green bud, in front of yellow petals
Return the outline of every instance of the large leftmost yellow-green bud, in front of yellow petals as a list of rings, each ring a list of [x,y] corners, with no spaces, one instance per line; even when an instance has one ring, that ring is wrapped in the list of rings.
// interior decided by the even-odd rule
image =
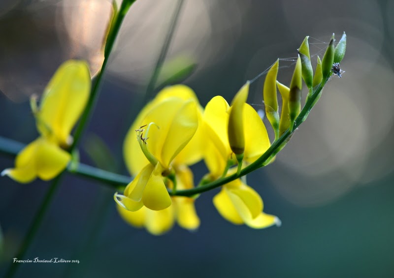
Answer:
[[[243,154],[245,149],[245,135],[243,130],[243,106],[248,98],[249,81],[239,89],[231,102],[229,117],[229,143],[231,151],[235,154]]]

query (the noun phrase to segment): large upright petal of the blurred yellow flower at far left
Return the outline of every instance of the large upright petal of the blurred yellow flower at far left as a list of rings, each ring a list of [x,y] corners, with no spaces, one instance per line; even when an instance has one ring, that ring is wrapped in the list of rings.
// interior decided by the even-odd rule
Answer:
[[[48,137],[48,127],[58,143],[68,145],[69,134],[89,98],[91,79],[85,62],[69,60],[55,72],[45,88],[37,114],[37,128]]]

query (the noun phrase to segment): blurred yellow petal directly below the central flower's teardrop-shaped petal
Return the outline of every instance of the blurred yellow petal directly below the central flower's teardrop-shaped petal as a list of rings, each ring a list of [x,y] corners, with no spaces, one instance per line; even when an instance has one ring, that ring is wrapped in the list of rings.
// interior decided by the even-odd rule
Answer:
[[[172,206],[161,211],[146,209],[145,215],[145,227],[152,235],[162,235],[174,225],[174,212]]]

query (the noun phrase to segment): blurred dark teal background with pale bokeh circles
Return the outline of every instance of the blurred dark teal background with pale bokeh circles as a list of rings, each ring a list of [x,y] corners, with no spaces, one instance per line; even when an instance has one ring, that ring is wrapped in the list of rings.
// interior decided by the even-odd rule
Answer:
[[[180,2],[164,67],[152,87]],[[0,2],[0,136],[25,144],[37,136],[29,96],[42,92],[63,61],[86,59],[92,75],[98,72],[110,14],[106,0]],[[126,175],[123,138],[166,75],[191,68],[183,83],[202,106],[215,95],[230,102],[246,80],[277,58],[287,60],[280,61],[278,79],[289,85],[306,35],[315,64],[332,32],[338,41],[346,31],[342,78],[327,83],[275,163],[248,176],[263,197],[264,212],[278,216],[282,226],[253,230],[230,224],[215,210],[213,190],[196,202],[198,231],[174,226],[155,237],[118,216],[113,189],[67,174],[26,257],[81,263],[24,264],[17,277],[393,277],[393,14],[391,0],[137,0],[79,147],[81,161],[95,165],[92,145],[105,144],[116,163],[101,167]],[[249,94],[257,110],[263,109],[264,77]],[[13,166],[12,157],[0,157],[0,169]],[[202,162],[193,170],[196,182],[206,171]],[[0,179],[0,276],[49,184]]]

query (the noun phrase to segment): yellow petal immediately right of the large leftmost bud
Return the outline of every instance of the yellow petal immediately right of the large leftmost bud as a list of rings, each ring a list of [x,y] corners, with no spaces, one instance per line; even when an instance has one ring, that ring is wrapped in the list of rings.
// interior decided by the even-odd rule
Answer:
[[[243,122],[245,132],[244,160],[252,163],[271,145],[265,125],[256,110],[244,104]]]

